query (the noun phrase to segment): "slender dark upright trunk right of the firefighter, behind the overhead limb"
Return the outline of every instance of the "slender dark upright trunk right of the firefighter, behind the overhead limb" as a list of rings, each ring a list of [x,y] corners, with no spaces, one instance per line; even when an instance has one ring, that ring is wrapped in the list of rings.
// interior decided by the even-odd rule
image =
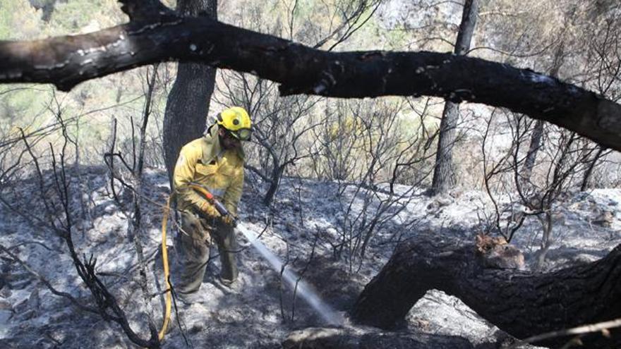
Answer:
[[[462,23],[457,32],[454,54],[464,56],[470,48],[470,42],[476,16],[478,15],[478,0],[466,0],[462,13]],[[445,102],[440,121],[440,135],[438,136],[438,152],[435,153],[435,168],[431,191],[433,195],[445,194],[455,184],[455,171],[453,164],[453,146],[457,139],[455,128],[459,121],[459,104],[450,101]]]

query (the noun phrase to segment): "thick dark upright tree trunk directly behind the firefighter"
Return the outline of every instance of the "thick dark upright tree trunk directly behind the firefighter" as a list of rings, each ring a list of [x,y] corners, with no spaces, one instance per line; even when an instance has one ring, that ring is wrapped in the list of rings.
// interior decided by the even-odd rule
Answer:
[[[177,11],[186,16],[217,19],[217,0],[180,0]],[[164,114],[164,163],[172,188],[174,166],[181,147],[203,135],[216,80],[216,68],[205,63],[179,63]]]

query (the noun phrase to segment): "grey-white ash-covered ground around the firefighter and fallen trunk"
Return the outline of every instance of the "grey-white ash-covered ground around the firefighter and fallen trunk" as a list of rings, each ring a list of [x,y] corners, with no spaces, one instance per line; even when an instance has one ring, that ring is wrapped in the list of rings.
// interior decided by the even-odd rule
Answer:
[[[79,176],[78,176],[79,174]],[[138,286],[135,247],[128,237],[131,195],[119,189],[119,202],[111,197],[109,178],[100,168],[83,168],[72,173],[71,215],[73,242],[78,254],[97,257],[100,278],[125,310],[134,331],[147,338],[147,310],[162,324],[164,298],[161,295],[162,207],[169,188],[163,171],[149,170],[143,183],[143,245],[148,259],[151,302],[145,305]],[[247,182],[253,181],[248,178]],[[399,239],[422,233],[462,235],[471,239],[481,228],[481,212],[487,198],[483,192],[464,192],[457,198],[431,199],[423,190],[408,195],[405,209],[387,221],[371,240],[362,262],[336,258],[335,243],[343,233],[346,217],[336,193],[338,183],[320,183],[298,178],[282,180],[271,208],[261,204],[265,188],[246,183],[240,214],[248,228],[262,233],[260,240],[314,286],[320,297],[346,317],[363,286],[382,268]],[[349,199],[360,192],[345,190]],[[399,187],[408,192],[410,188]],[[20,183],[4,183],[0,204],[0,244],[8,247],[54,288],[81,302],[91,301],[68,256],[64,241],[46,227],[54,219],[45,214],[36,178]],[[349,195],[349,196],[348,196]],[[376,197],[381,199],[381,194]],[[349,202],[349,201],[348,201]],[[555,243],[548,253],[548,270],[603,257],[621,243],[621,190],[598,189],[565,195],[555,210]],[[354,200],[351,214],[366,207]],[[374,205],[367,206],[374,209]],[[61,207],[55,209],[61,210]],[[373,213],[373,212],[370,212]],[[478,214],[477,214],[478,213]],[[602,219],[605,216],[605,219]],[[33,218],[35,217],[35,218]],[[40,219],[41,221],[37,221]],[[404,228],[403,223],[409,222]],[[176,252],[168,238],[173,272]],[[535,219],[526,221],[514,243],[531,264],[541,240]],[[222,288],[217,250],[200,290],[203,299],[190,307],[179,306],[177,316],[163,343],[164,348],[280,348],[280,343],[296,329],[325,326],[316,312],[284,285],[279,271],[239,235],[239,285]],[[343,255],[342,255],[343,256]],[[495,343],[502,333],[457,298],[430,291],[416,303],[407,317],[411,329],[432,334],[468,338],[473,345]],[[184,338],[185,337],[185,338]],[[120,326],[97,314],[83,312],[65,298],[53,295],[44,284],[8,255],[0,253],[0,347],[1,348],[131,348]]]

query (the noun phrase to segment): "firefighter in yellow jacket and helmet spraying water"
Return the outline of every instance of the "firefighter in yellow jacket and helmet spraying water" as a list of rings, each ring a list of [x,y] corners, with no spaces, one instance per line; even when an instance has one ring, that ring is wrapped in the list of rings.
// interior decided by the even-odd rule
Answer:
[[[176,243],[181,252],[182,269],[175,290],[186,303],[195,299],[203,282],[212,243],[217,245],[222,262],[220,283],[232,287],[237,278],[234,220],[231,216],[220,216],[215,207],[189,185],[203,185],[236,215],[243,187],[241,141],[250,140],[251,134],[248,112],[234,106],[218,114],[205,136],[189,142],[179,153],[173,185],[181,212],[181,231]]]

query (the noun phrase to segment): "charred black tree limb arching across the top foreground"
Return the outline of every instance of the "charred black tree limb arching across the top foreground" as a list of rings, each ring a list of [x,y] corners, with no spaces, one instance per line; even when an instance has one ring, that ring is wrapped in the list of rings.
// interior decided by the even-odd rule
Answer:
[[[283,95],[424,94],[505,107],[621,150],[619,104],[528,69],[426,51],[321,51],[210,18],[178,17],[156,5],[159,10],[143,13],[137,3],[143,1],[123,1],[133,18],[125,25],[85,35],[0,42],[0,82],[44,82],[71,90],[85,80],[136,66],[194,61],[279,82]],[[150,19],[145,13],[161,16]]]

